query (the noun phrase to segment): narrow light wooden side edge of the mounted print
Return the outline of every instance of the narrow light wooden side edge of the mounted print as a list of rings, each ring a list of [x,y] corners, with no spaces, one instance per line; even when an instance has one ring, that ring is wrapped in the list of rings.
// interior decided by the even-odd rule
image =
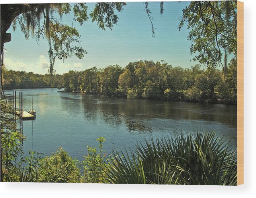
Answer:
[[[244,3],[237,2],[237,185],[244,183]]]

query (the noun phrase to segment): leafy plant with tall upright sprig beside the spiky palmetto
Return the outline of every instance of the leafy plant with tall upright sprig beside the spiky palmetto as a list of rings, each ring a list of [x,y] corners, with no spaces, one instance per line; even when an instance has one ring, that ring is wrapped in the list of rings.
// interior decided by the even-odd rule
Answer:
[[[84,177],[82,181],[84,183],[106,183],[107,169],[112,166],[112,162],[109,159],[104,161],[106,154],[103,154],[103,142],[106,140],[103,137],[97,139],[99,144],[99,150],[87,146],[88,154],[84,156]]]

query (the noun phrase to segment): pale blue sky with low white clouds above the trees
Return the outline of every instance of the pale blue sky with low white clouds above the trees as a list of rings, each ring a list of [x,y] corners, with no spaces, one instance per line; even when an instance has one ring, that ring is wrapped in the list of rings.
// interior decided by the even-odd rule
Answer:
[[[191,41],[187,40],[189,30],[184,26],[178,30],[179,18],[182,9],[190,2],[164,2],[164,13],[160,15],[159,2],[150,2],[153,23],[156,28],[155,37],[152,37],[151,23],[145,12],[143,2],[127,2],[113,31],[100,29],[97,23],[89,18],[82,26],[74,21],[81,35],[80,46],[88,54],[82,60],[75,56],[63,60],[56,60],[56,73],[63,74],[69,70],[85,70],[91,67],[104,68],[118,64],[125,67],[129,62],[138,60],[164,60],[173,67],[191,67],[197,62],[190,62]],[[94,3],[87,3],[88,12]],[[73,15],[63,16],[63,22],[72,26]],[[15,71],[32,71],[45,74],[49,68],[48,42],[41,38],[39,43],[34,38],[26,40],[24,34],[17,27],[14,32],[12,26],[7,31],[12,40],[5,43],[4,63],[7,69]],[[192,55],[193,56],[193,55]]]

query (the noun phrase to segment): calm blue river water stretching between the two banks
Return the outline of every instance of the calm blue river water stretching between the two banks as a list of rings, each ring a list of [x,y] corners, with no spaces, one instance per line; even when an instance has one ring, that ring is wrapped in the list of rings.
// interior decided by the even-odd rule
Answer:
[[[23,109],[28,111],[31,90],[16,91],[17,95],[23,91]],[[13,91],[5,93],[12,101]],[[33,89],[33,107],[36,119],[23,121],[26,155],[28,150],[50,155],[62,146],[70,156],[83,160],[86,146],[98,146],[100,136],[106,138],[104,150],[110,154],[113,145],[132,148],[150,136],[197,129],[215,130],[236,147],[237,113],[232,105],[127,100],[45,88]]]

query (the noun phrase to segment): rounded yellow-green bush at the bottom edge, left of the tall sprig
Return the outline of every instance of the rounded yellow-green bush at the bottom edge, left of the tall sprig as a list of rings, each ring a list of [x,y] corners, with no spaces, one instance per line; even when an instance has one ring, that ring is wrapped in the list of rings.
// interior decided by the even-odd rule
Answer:
[[[78,161],[59,148],[51,156],[43,158],[40,164],[38,182],[79,183]]]

